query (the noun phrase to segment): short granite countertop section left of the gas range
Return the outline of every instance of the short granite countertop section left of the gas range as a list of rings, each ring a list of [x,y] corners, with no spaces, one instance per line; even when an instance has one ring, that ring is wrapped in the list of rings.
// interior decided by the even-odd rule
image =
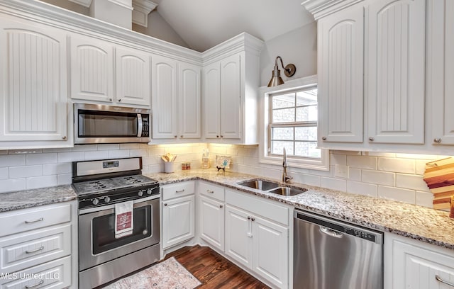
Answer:
[[[75,200],[76,193],[71,185],[36,188],[34,190],[0,193],[0,212],[32,208]]]

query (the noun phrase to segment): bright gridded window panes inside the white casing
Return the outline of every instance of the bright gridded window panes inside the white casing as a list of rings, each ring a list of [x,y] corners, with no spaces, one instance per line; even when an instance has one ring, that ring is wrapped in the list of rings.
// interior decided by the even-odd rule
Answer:
[[[317,149],[317,88],[270,94],[269,153],[320,159]]]

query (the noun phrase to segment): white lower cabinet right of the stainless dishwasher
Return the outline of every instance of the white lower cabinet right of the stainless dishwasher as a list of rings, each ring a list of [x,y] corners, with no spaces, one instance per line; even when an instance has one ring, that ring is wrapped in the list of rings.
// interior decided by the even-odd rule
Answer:
[[[454,252],[394,234],[384,235],[385,289],[454,288]]]

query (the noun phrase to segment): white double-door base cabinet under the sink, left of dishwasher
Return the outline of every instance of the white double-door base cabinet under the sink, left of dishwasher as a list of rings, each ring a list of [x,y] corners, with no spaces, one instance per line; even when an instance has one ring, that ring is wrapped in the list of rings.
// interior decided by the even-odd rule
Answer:
[[[288,218],[287,207],[226,190],[226,255],[276,288],[288,288]]]

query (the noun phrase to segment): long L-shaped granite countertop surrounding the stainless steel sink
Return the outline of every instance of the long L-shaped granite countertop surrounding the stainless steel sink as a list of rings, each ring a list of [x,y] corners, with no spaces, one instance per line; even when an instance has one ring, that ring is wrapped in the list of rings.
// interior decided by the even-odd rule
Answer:
[[[454,249],[454,219],[449,217],[448,212],[441,210],[297,183],[292,183],[290,186],[303,187],[308,191],[297,196],[279,196],[237,184],[238,181],[267,178],[235,172],[223,174],[223,172],[218,173],[215,169],[192,169],[172,174],[158,173],[147,176],[160,181],[161,185],[192,179],[218,183],[228,188],[277,200],[345,222]]]

